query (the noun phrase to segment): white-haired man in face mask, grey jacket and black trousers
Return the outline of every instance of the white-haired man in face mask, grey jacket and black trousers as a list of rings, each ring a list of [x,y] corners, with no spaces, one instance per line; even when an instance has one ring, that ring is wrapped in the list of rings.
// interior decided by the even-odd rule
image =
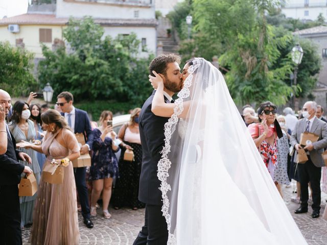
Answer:
[[[327,124],[318,119],[315,116],[317,111],[317,103],[308,101],[303,105],[302,115],[304,118],[298,120],[294,131],[292,132],[290,143],[294,146],[295,159],[297,156],[298,149],[302,148],[299,144],[301,133],[310,132],[319,136],[317,142],[313,142],[305,146],[308,155],[308,161],[304,164],[298,164],[298,174],[301,185],[301,204],[295,213],[306,213],[308,212],[308,183],[310,182],[312,188],[312,214],[313,218],[319,217],[320,213],[320,178],[321,178],[321,167],[324,166],[324,161],[321,154],[323,149],[327,146]]]

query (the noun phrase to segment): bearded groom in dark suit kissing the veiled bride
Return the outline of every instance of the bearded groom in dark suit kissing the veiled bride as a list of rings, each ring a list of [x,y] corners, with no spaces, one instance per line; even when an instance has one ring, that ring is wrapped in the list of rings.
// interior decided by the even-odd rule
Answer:
[[[174,54],[164,54],[156,57],[150,63],[150,74],[156,71],[164,80],[164,95],[166,103],[174,103],[172,96],[182,88],[180,73],[180,57]],[[164,125],[168,117],[156,116],[151,111],[155,90],[144,103],[139,114],[139,134],[143,151],[142,170],[139,179],[139,201],[146,203],[145,224],[135,239],[133,245],[166,245],[168,240],[167,223],[162,216],[162,198],[160,181],[157,177],[157,164],[161,158],[161,150],[165,144]]]

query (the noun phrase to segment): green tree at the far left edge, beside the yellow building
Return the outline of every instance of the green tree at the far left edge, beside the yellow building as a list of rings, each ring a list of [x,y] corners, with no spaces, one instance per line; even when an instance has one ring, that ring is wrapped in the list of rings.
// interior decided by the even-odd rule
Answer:
[[[36,87],[33,78],[33,54],[0,42],[0,88],[11,96],[27,95]]]

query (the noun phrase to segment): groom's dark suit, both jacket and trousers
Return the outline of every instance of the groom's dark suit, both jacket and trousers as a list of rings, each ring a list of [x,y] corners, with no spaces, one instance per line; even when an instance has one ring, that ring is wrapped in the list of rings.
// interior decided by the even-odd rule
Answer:
[[[157,177],[157,164],[161,158],[161,150],[165,144],[164,126],[168,117],[156,116],[151,111],[155,91],[144,103],[139,113],[139,134],[143,151],[142,170],[139,178],[139,201],[146,203],[145,225],[139,232],[134,245],[167,244],[168,230],[162,216],[160,181]],[[165,97],[165,103],[171,103]]]

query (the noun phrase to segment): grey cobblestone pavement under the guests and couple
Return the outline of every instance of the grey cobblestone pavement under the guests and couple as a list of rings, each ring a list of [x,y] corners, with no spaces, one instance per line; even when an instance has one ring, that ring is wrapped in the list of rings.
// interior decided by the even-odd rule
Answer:
[[[313,219],[311,217],[311,207],[309,207],[308,213],[294,214],[294,210],[299,205],[290,202],[290,198],[294,195],[292,191],[293,183],[291,187],[283,188],[284,200],[303,236],[310,245],[327,244],[327,222],[321,216]],[[326,199],[327,195],[322,193],[321,214],[325,208]],[[79,213],[80,244],[129,245],[133,243],[144,223],[144,209],[134,211],[125,208],[120,210],[110,209],[109,211],[112,217],[105,219],[102,217],[101,209],[98,209],[98,216],[92,218],[95,225],[93,229],[85,227],[82,215]],[[30,231],[31,227],[29,226],[22,232],[23,244],[30,244],[28,243]]]

